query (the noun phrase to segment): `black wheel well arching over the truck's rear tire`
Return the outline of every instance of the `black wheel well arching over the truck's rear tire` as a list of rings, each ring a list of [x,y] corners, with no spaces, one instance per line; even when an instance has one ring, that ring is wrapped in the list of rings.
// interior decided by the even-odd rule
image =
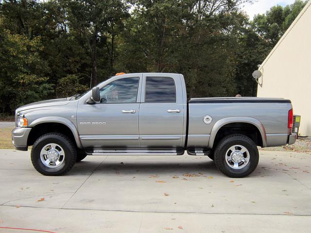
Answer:
[[[225,136],[233,133],[245,135],[252,139],[257,146],[262,147],[262,138],[259,129],[253,124],[244,122],[229,123],[220,128],[215,136],[214,145],[217,145]]]

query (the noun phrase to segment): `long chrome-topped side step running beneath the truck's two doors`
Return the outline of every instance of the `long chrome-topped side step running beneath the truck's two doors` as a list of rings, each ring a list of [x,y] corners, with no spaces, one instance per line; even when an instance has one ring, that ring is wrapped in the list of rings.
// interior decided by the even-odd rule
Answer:
[[[86,149],[87,155],[183,155],[184,149]]]

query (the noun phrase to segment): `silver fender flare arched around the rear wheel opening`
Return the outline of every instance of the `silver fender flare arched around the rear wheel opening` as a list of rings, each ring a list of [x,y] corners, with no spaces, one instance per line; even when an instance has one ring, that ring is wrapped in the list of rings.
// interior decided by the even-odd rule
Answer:
[[[229,124],[229,123],[249,123],[249,124],[254,125],[260,132],[261,139],[262,139],[262,147],[267,146],[266,131],[258,119],[249,117],[249,116],[232,116],[232,117],[225,117],[223,119],[220,119],[214,124],[210,132],[208,148],[213,148],[216,134],[224,125]]]

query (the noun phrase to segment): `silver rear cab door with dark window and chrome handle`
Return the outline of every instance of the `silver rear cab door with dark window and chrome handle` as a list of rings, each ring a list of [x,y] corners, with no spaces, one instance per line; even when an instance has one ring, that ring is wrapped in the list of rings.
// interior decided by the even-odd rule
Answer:
[[[181,148],[184,106],[179,74],[143,74],[139,106],[141,148]]]

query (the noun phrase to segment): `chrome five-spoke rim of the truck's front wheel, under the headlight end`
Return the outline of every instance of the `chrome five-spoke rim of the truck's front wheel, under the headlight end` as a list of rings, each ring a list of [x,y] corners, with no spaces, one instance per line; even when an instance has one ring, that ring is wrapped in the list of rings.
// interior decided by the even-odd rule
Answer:
[[[49,143],[42,148],[40,159],[47,167],[58,167],[65,160],[65,152],[58,144]]]

